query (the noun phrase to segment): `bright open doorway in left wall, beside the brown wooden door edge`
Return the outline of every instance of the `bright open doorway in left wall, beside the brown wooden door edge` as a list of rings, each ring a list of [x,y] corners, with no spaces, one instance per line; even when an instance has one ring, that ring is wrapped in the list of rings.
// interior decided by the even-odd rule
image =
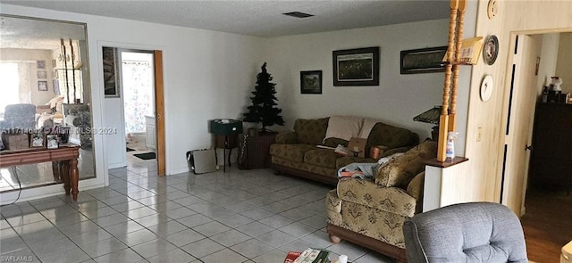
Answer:
[[[156,165],[154,53],[120,50],[120,58],[127,163]]]

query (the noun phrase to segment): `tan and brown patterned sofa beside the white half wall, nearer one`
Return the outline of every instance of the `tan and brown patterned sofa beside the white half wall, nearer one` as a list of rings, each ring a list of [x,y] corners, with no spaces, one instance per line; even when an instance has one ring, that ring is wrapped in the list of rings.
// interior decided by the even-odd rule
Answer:
[[[407,262],[402,226],[423,211],[425,160],[437,144],[425,141],[375,169],[374,180],[342,178],[326,194],[332,242],[357,243],[397,262]]]

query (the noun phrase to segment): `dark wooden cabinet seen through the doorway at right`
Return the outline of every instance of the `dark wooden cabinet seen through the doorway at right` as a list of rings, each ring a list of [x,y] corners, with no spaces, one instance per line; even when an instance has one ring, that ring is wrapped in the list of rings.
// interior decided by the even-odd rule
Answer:
[[[534,185],[572,188],[572,104],[539,103],[530,177]]]

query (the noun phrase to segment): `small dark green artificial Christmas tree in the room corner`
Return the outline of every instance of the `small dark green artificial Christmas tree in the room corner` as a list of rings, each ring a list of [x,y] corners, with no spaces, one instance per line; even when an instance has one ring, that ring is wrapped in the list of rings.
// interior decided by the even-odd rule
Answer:
[[[275,83],[270,82],[272,76],[266,72],[266,62],[262,65],[262,72],[257,74],[257,86],[254,87],[254,95],[250,97],[252,105],[248,106],[248,112],[244,113],[244,121],[246,122],[262,122],[262,133],[266,133],[266,127],[277,125],[284,125],[284,119],[280,115],[282,110],[276,105],[276,86]]]

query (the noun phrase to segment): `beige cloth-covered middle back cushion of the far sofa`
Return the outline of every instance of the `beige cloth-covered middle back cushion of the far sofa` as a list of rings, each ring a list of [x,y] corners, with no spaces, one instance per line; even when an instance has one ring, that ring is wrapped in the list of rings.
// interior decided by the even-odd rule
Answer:
[[[349,141],[351,137],[359,136],[359,131],[364,124],[364,119],[354,116],[333,115],[328,120],[328,128],[325,131],[327,138],[340,138]]]

